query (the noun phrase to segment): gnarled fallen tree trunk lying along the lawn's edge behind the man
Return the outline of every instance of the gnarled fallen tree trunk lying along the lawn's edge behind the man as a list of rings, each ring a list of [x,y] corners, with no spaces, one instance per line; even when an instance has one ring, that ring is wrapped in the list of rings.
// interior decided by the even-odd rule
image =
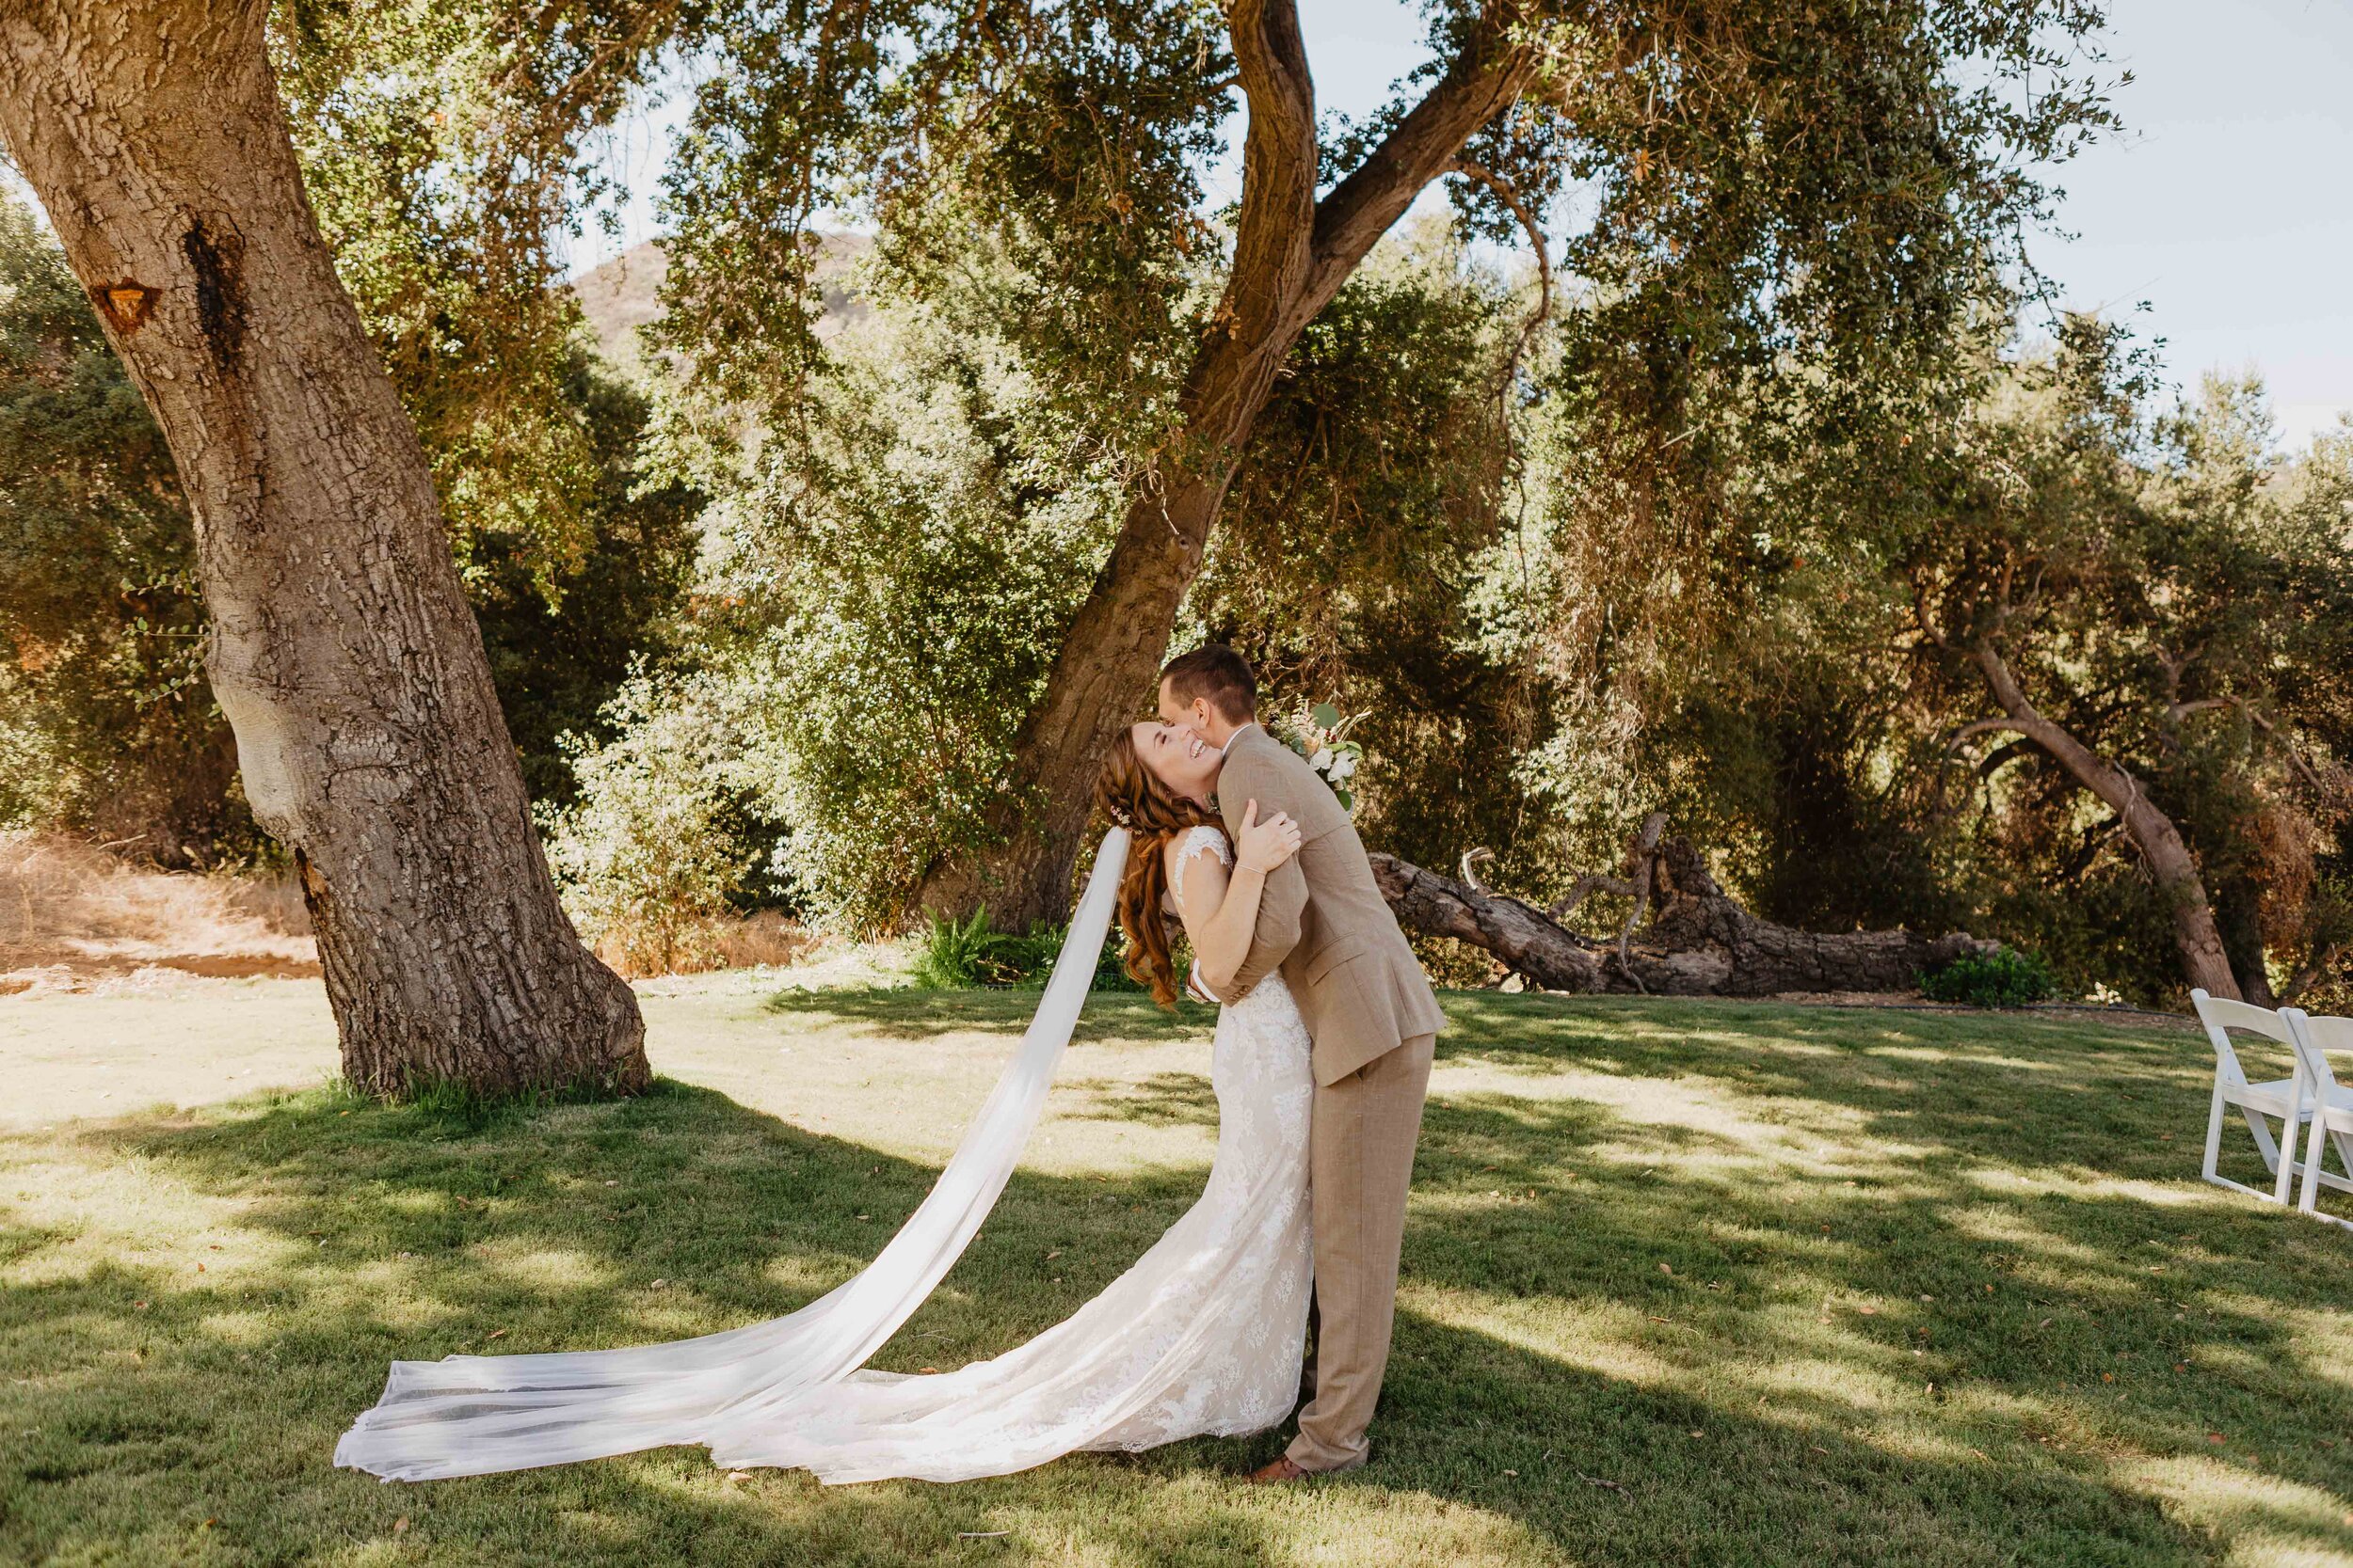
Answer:
[[[1927,938],[1913,931],[1795,931],[1758,919],[1725,893],[1687,839],[1659,842],[1645,823],[1631,879],[1593,879],[1635,893],[1649,924],[1595,943],[1518,898],[1475,889],[1395,856],[1372,856],[1374,877],[1398,924],[1485,947],[1544,990],[1657,992],[1666,997],[1772,997],[1779,992],[1913,990],[1920,971],[1986,952],[1967,931]],[[1588,879],[1579,879],[1581,884]]]

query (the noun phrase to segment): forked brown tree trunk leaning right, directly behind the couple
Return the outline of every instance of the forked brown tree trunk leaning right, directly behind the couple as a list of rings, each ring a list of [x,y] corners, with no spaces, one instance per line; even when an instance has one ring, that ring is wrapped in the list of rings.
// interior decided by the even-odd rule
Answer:
[[[1087,825],[1094,769],[1120,724],[1148,708],[1176,607],[1209,543],[1226,487],[1292,343],[1449,172],[1461,146],[1529,82],[1537,59],[1511,40],[1518,7],[1487,5],[1461,56],[1388,139],[1315,200],[1315,85],[1294,0],[1235,0],[1228,33],[1249,103],[1233,270],[1179,400],[1181,435],[1129,505],[1014,741],[1014,780],[991,827],[1002,846],[944,860],[925,907],[986,905],[1000,926],[1061,919]]]

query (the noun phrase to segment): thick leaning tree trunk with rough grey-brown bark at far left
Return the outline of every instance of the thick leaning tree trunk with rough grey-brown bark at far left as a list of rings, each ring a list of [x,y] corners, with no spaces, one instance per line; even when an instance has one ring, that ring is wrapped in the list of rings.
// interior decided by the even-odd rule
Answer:
[[[416,433],[334,275],[266,0],[0,2],[0,139],[195,515],[207,675],[294,853],[344,1072],[647,1084],[548,879]]]

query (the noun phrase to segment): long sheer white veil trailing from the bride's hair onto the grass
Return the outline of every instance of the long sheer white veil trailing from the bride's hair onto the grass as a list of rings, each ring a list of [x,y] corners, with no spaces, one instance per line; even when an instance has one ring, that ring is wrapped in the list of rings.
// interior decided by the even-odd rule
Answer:
[[[699,1340],[539,1356],[393,1361],[334,1462],[386,1481],[480,1476],[666,1443],[725,1443],[859,1371],[962,1255],[1021,1157],[1094,980],[1127,865],[1113,827],[1021,1048],[922,1206],[856,1276],[800,1312]]]

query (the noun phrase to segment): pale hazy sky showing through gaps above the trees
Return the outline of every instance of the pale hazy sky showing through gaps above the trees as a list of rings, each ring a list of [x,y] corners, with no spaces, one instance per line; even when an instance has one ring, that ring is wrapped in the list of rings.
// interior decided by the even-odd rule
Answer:
[[[1421,61],[1414,5],[1299,9],[1327,108],[1365,113]],[[2353,409],[2353,5],[2113,0],[2106,42],[2134,73],[2115,99],[2127,132],[2057,172],[2078,237],[2042,235],[2033,254],[2068,306],[2165,339],[2177,381],[2261,369],[2301,444]],[[640,193],[673,115],[616,132],[609,167]],[[642,200],[624,219],[626,242],[652,235]],[[581,261],[612,249],[591,235]]]

